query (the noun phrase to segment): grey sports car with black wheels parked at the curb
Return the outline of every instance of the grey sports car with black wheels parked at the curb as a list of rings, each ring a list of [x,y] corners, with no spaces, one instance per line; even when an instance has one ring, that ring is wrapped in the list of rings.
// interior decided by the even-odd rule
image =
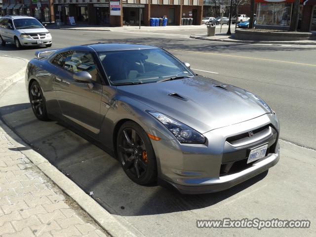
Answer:
[[[35,116],[113,151],[137,184],[217,192],[279,159],[279,122],[261,98],[198,76],[163,49],[99,43],[48,52],[26,69]]]

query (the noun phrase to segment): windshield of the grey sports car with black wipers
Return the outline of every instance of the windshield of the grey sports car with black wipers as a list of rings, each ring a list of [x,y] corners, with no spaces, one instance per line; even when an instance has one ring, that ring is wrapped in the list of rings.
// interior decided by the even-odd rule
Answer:
[[[111,83],[150,83],[194,74],[179,60],[159,49],[98,52]]]

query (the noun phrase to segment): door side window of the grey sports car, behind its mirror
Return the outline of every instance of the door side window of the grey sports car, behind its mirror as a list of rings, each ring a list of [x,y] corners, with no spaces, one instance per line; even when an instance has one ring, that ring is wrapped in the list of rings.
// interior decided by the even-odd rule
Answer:
[[[91,53],[82,51],[69,51],[66,53],[66,55],[64,55],[64,58],[64,69],[72,73],[86,71],[91,75],[92,80],[98,81],[98,70]]]

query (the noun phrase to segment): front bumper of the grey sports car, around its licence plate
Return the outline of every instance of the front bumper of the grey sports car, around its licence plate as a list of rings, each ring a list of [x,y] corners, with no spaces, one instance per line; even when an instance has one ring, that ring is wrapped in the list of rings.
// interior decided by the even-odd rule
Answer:
[[[261,131],[262,127],[267,128]],[[258,139],[247,144],[247,138],[238,136],[247,134],[250,130],[258,131]],[[273,132],[268,136],[265,135],[265,131]],[[207,137],[207,143],[204,145],[180,144],[176,140],[153,141],[159,180],[165,181],[184,194],[212,193],[228,189],[277,163],[278,133],[279,124],[276,116],[266,114],[206,132],[203,135]],[[236,141],[230,140],[236,137]],[[250,150],[266,144],[266,156],[246,164]],[[237,168],[232,168],[231,171],[230,168],[226,168],[230,164],[230,167],[234,167],[235,163]]]

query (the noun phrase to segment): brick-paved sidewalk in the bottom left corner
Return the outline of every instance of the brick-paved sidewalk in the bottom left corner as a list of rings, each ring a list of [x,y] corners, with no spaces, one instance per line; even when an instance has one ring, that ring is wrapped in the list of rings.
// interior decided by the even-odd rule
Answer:
[[[1,237],[108,236],[21,149],[0,127]]]

